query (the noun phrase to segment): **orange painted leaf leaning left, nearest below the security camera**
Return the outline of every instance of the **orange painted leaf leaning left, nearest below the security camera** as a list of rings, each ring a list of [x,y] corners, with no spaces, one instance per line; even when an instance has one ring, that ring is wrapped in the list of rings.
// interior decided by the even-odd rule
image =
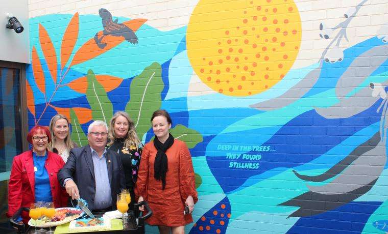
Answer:
[[[48,36],[46,29],[42,24],[39,23],[39,41],[40,47],[42,48],[44,58],[47,63],[48,70],[50,70],[51,77],[54,80],[54,83],[57,83],[57,53],[55,52],[55,48],[53,42]]]

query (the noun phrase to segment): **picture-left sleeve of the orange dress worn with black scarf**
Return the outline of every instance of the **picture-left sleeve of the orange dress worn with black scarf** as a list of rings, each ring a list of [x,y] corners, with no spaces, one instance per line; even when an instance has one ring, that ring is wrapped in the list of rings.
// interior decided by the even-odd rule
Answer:
[[[147,186],[148,186],[148,174],[149,174],[149,158],[150,150],[147,147],[148,144],[143,149],[141,153],[139,170],[137,172],[137,181],[135,186],[135,199],[139,199],[139,196],[142,196],[144,200],[147,200]]]

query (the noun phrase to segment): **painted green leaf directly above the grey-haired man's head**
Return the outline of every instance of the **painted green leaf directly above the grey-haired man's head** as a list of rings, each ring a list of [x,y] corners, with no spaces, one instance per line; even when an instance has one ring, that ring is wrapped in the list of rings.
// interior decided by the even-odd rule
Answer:
[[[96,80],[92,70],[87,74],[88,87],[86,98],[92,111],[93,120],[102,120],[108,123],[113,115],[113,105],[109,100],[104,87]]]

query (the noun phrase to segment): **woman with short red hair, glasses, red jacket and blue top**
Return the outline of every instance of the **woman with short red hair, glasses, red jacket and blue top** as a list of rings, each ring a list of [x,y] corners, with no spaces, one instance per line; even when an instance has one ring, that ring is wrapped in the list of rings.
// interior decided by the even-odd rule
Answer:
[[[68,195],[59,185],[57,173],[65,164],[61,156],[47,151],[50,131],[43,126],[33,127],[27,135],[32,150],[13,158],[8,183],[8,213],[13,216],[21,207],[30,208],[36,201],[52,201],[56,208],[66,207]],[[29,214],[21,213],[24,223]]]

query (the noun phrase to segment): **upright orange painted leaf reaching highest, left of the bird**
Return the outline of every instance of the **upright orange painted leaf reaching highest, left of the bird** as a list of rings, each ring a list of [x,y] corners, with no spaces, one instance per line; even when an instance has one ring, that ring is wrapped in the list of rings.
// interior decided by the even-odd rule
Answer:
[[[62,45],[61,45],[61,69],[66,66],[67,61],[71,55],[74,45],[78,39],[79,30],[79,18],[78,12],[71,18],[67,25],[66,31],[63,34]]]

